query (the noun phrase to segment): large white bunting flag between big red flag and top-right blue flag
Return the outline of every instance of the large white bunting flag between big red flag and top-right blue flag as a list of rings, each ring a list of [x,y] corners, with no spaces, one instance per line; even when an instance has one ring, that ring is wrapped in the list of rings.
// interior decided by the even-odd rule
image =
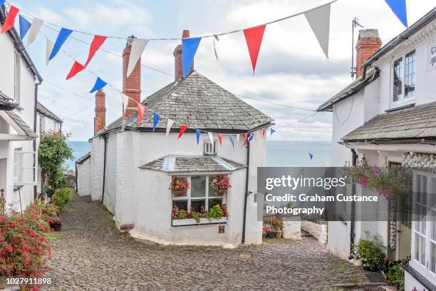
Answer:
[[[304,12],[318,43],[328,58],[328,37],[330,31],[330,4]]]

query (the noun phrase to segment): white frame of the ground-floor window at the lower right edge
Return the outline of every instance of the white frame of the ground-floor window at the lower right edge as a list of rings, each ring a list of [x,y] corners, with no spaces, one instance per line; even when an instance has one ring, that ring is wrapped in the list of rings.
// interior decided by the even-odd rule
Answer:
[[[416,204],[420,204],[423,205],[422,203],[417,203],[416,202],[416,198],[415,198],[415,192],[417,191],[417,188],[415,187],[415,179],[417,178],[417,176],[426,176],[427,177],[427,187],[426,187],[426,202],[427,205],[426,206],[426,213],[428,213],[430,211],[430,205],[431,203],[429,203],[429,201],[431,201],[431,195],[432,195],[432,187],[433,189],[436,189],[436,174],[435,173],[427,173],[427,172],[422,172],[422,171],[414,171],[413,173],[413,199],[412,199],[412,213],[414,213],[413,216],[415,216],[416,218],[416,213],[417,210],[415,210],[415,206]],[[435,194],[435,193],[434,193]],[[432,208],[432,210],[436,211],[436,208]],[[413,219],[412,219],[413,220]],[[432,284],[436,285],[436,272],[432,272],[430,270],[430,247],[431,247],[431,243],[436,243],[435,240],[431,239],[431,231],[433,228],[433,224],[436,223],[436,221],[433,221],[435,219],[429,217],[428,215],[425,216],[425,218],[423,220],[421,220],[420,222],[417,221],[412,221],[412,247],[411,247],[411,258],[410,258],[410,266],[413,267],[415,270],[417,270],[418,272],[420,272],[421,275],[423,275],[427,280],[429,280],[430,282],[432,282]],[[417,223],[425,223],[425,233],[421,233],[419,230],[417,230],[416,226]],[[422,226],[421,226],[422,228]],[[418,260],[415,257],[415,250],[416,250],[416,240],[415,240],[415,233],[417,233],[418,235],[420,235],[420,238],[424,238],[425,239],[425,262],[424,265],[422,265],[422,263],[420,262],[419,258],[420,255],[418,256]],[[435,270],[436,271],[436,270]]]

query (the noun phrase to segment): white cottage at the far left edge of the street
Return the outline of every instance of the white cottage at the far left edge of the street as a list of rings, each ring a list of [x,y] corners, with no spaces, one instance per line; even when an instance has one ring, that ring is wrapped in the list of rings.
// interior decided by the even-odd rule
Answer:
[[[0,27],[5,8],[0,6]],[[42,78],[13,28],[0,34],[0,191],[26,208],[36,196],[38,85]]]

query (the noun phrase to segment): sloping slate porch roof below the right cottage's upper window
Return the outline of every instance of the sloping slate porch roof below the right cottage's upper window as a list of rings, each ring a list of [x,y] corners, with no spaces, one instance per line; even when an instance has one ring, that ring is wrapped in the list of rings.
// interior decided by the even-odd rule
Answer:
[[[342,138],[373,141],[436,138],[436,102],[383,113]]]

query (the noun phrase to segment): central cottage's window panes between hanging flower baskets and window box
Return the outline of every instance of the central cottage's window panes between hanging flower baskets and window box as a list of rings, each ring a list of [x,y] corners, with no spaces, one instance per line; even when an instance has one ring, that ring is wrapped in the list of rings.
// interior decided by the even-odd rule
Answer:
[[[172,196],[172,206],[177,205],[179,209],[200,212],[203,207],[204,210],[209,210],[214,205],[222,205],[224,196],[215,195],[210,187],[212,179],[216,178],[214,175],[194,175],[188,177],[191,187],[187,190],[184,196]]]

